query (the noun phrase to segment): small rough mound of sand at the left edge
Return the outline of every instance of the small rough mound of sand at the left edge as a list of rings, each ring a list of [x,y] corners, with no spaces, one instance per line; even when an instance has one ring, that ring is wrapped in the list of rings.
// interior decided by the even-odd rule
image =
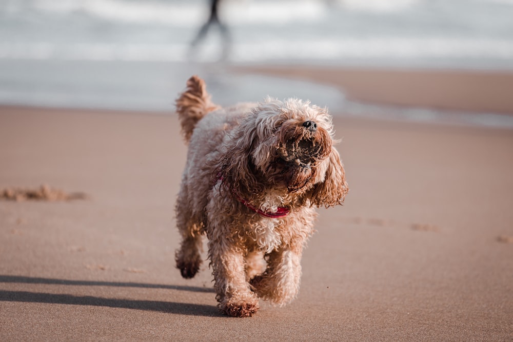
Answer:
[[[81,192],[66,193],[60,189],[52,189],[48,185],[42,185],[38,189],[7,188],[0,190],[0,199],[15,200],[46,200],[56,202],[60,200],[86,199],[87,195]]]

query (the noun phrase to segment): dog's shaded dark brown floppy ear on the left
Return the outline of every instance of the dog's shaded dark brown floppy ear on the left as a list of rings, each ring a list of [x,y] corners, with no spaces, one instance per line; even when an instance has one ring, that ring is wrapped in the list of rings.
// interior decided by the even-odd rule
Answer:
[[[255,114],[250,112],[230,137],[230,142],[220,159],[216,161],[215,177],[223,179],[225,189],[235,191],[244,198],[254,198],[264,192],[263,185],[255,177],[252,154],[257,140]]]

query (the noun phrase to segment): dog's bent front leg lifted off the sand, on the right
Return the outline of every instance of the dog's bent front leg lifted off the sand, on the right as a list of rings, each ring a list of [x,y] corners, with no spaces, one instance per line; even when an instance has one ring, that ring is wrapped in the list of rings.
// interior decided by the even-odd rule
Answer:
[[[286,246],[269,254],[264,274],[251,280],[251,285],[263,299],[283,306],[299,292],[302,246]]]

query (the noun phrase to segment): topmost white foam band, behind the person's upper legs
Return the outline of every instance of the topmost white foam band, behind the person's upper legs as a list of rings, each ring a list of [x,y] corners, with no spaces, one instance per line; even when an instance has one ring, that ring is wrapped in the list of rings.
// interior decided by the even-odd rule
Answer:
[[[312,0],[228,1],[221,7],[221,15],[230,24],[281,23],[320,19],[326,12],[325,4]],[[121,23],[160,24],[195,27],[208,15],[207,2],[162,2],[123,0],[36,0],[39,11],[61,15],[81,12],[98,18]],[[224,5],[224,4],[223,4]]]

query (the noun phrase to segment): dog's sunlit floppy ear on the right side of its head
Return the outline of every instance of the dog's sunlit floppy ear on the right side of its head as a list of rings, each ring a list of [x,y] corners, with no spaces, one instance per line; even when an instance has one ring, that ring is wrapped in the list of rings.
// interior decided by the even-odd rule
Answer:
[[[311,193],[311,204],[326,208],[342,204],[349,188],[347,187],[344,166],[339,152],[332,148],[328,156],[324,182],[316,184]]]

